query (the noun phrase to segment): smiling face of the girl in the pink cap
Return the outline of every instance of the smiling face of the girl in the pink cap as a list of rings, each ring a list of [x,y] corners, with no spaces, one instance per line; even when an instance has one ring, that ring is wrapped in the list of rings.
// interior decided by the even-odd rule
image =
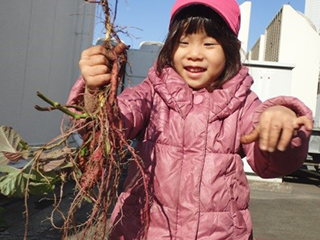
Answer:
[[[221,45],[202,32],[183,35],[173,54],[175,70],[195,90],[212,90],[212,83],[223,72],[225,62]]]

